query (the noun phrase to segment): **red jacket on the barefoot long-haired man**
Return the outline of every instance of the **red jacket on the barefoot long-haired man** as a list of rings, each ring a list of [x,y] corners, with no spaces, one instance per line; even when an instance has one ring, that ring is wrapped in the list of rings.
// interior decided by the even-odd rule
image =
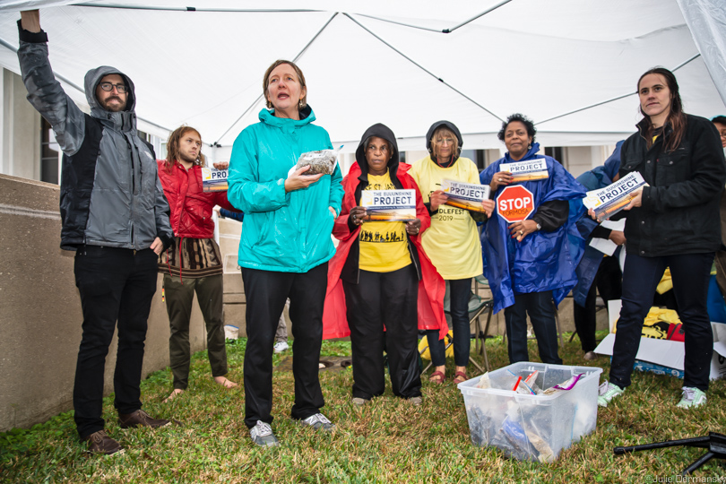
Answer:
[[[169,173],[167,160],[156,160],[164,195],[169,202],[169,222],[175,237],[212,238],[214,220],[212,209],[220,205],[227,210],[239,212],[227,201],[227,192],[204,192],[202,189],[202,167],[194,165],[186,170],[174,161]]]

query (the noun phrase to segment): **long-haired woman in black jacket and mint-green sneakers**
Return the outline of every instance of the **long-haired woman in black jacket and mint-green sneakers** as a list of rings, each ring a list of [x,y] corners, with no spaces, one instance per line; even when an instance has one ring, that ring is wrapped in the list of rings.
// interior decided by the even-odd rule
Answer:
[[[713,124],[687,115],[678,82],[656,67],[638,81],[643,120],[623,144],[620,177],[638,171],[648,184],[626,207],[627,257],[623,307],[613,348],[609,382],[598,404],[630,385],[645,315],[666,267],[670,267],[678,315],[686,333],[686,376],[678,407],[706,402],[713,334],[706,311],[713,254],[721,246],[719,199],[726,163]]]

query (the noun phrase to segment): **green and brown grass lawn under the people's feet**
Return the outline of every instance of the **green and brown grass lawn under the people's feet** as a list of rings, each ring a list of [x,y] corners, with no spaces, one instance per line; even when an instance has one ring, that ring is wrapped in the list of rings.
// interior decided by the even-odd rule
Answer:
[[[229,378],[241,383],[246,340],[228,343]],[[488,340],[487,348],[493,369],[506,366],[501,338]],[[290,353],[276,355],[275,364]],[[530,354],[536,359],[533,341]],[[323,355],[350,355],[350,342],[324,341]],[[608,374],[608,359],[583,361],[577,338],[566,343],[560,355],[566,365],[600,366]],[[452,369],[447,368],[448,376]],[[472,370],[470,365],[470,375]],[[596,431],[556,462],[518,462],[495,448],[471,445],[462,394],[451,380],[445,385],[424,380],[420,407],[393,397],[389,383],[384,396],[363,408],[350,403],[350,368],[322,371],[320,380],[324,414],[337,430],[318,433],[290,420],[292,374],[276,371],[272,428],[282,445],[259,449],[244,423],[242,386],[224,390],[214,385],[202,351],[192,360],[189,391],[175,401],[161,402],[171,391],[169,370],[142,382],[144,410],[179,419],[182,427],[123,430],[108,397],[104,400],[107,430],[125,446],[125,454],[84,454],[73,414],[67,412],[30,430],[0,434],[0,481],[645,483],[657,478],[677,482],[675,476],[703,454],[702,449],[677,447],[616,456],[613,446],[726,432],[726,382],[712,383],[704,408],[684,411],[675,406],[682,380],[636,372],[627,392],[598,411]],[[726,466],[712,461],[694,476],[703,479],[694,482],[726,482]]]

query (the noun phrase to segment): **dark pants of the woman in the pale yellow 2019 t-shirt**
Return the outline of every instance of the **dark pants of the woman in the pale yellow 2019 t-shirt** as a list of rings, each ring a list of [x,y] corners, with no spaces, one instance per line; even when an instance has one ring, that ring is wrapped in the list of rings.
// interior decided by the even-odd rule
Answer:
[[[451,296],[451,323],[454,326],[454,364],[465,367],[469,364],[469,351],[471,349],[471,332],[469,329],[469,298],[471,296],[471,277],[468,279],[453,279],[449,282],[449,295]],[[431,362],[435,367],[446,364],[444,340],[438,339],[438,330],[426,332],[428,351],[431,353]]]

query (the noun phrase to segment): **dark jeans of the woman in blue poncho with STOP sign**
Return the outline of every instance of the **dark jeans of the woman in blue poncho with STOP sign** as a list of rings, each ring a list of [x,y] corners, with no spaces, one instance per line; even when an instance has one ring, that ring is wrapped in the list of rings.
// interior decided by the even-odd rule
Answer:
[[[562,365],[562,359],[557,355],[557,323],[551,290],[514,294],[514,305],[505,308],[509,362],[530,360],[527,350],[528,314],[542,363]]]

